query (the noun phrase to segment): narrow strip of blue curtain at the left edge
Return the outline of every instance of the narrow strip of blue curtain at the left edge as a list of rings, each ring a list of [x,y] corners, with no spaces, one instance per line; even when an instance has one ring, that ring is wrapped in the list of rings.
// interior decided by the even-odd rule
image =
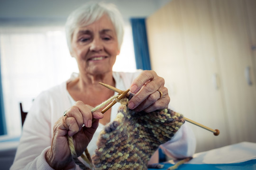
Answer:
[[[3,90],[2,90],[2,78],[1,78],[1,59],[0,59],[0,135],[6,135],[6,134],[7,134],[7,129],[6,129],[5,115],[4,115],[4,102],[3,102]]]

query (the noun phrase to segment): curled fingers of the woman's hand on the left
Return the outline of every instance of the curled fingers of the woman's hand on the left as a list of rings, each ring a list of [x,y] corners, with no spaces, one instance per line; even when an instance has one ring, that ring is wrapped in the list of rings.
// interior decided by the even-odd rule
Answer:
[[[64,121],[64,128],[68,130],[68,135],[73,136],[79,132],[83,125],[85,127],[92,126],[92,119],[102,119],[103,114],[99,111],[94,111],[91,113],[92,107],[85,105],[83,102],[76,102],[69,110],[66,112],[66,119]]]

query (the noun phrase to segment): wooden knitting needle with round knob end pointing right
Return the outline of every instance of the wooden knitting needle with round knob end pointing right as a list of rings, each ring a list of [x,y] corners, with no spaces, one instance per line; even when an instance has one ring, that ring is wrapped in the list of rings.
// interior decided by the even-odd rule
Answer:
[[[113,90],[113,91],[115,91],[115,92],[117,92],[117,93],[123,93],[123,91],[122,90],[119,90],[118,88],[116,88],[116,87],[113,87],[113,86],[111,86],[111,85],[107,85],[107,84],[104,84],[104,83],[100,83],[101,85],[104,85],[105,87],[107,87],[107,88],[109,88],[110,90]],[[129,90],[129,89],[128,89]],[[113,102],[115,102],[115,101],[113,101]],[[115,102],[116,103],[116,102]],[[115,104],[114,103],[114,104]],[[111,103],[110,103],[111,104]],[[114,105],[114,104],[112,104],[112,106]],[[111,107],[111,106],[110,106]],[[102,110],[103,111],[103,110]],[[101,112],[102,112],[101,111]],[[204,126],[204,125],[202,125],[202,124],[200,124],[200,123],[197,123],[197,122],[195,122],[195,121],[193,121],[193,120],[191,120],[191,119],[188,119],[188,118],[185,118],[185,117],[183,117],[186,121],[188,121],[188,122],[190,122],[190,123],[192,123],[192,124],[194,124],[194,125],[196,125],[196,126],[199,126],[199,127],[202,127],[202,128],[204,128],[204,129],[206,129],[206,130],[209,130],[210,132],[213,132],[213,135],[215,135],[215,136],[218,136],[219,135],[219,130],[218,129],[215,129],[215,130],[213,130],[212,128],[210,128],[210,127],[206,127],[206,126]]]

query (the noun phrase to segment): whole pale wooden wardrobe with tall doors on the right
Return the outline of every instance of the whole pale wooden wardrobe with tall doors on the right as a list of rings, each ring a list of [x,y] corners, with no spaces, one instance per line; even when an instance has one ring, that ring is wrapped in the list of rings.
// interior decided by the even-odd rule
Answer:
[[[152,69],[190,123],[196,152],[256,142],[256,0],[172,0],[146,19]]]

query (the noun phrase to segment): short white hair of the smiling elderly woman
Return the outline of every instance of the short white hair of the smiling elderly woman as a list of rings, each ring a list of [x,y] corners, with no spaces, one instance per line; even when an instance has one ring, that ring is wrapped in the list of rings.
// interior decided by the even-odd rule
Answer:
[[[99,3],[86,3],[80,8],[74,10],[67,18],[65,24],[66,40],[69,51],[72,51],[71,42],[74,30],[78,27],[88,26],[91,23],[100,19],[104,14],[110,17],[115,31],[117,33],[119,50],[123,42],[124,28],[123,18],[119,10],[114,4]]]

